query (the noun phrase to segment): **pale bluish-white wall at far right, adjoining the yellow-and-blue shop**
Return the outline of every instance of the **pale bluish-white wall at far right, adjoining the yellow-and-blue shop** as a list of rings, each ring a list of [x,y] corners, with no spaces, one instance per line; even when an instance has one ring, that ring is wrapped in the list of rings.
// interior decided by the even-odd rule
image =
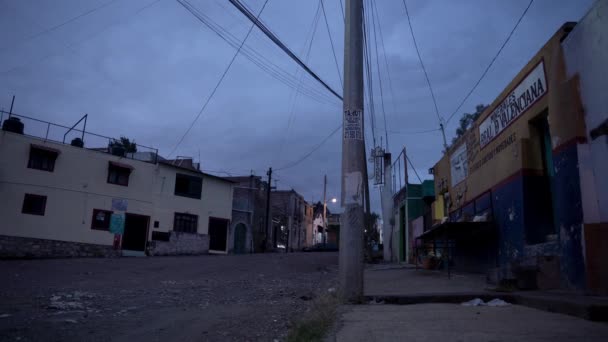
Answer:
[[[582,217],[571,219],[584,222],[582,229],[564,225],[567,243],[562,243],[566,252],[582,254],[569,269],[582,269],[585,265],[586,285],[592,294],[608,295],[608,136],[591,136],[591,131],[608,120],[608,1],[597,1],[585,18],[563,41],[562,50],[566,78],[576,83],[577,95],[584,113],[586,143],[563,149],[563,158],[576,154],[578,157],[578,179],[580,186],[570,184],[570,191],[580,191]],[[574,170],[573,170],[574,171]],[[579,224],[580,225],[580,224]],[[583,277],[573,271],[580,283]]]

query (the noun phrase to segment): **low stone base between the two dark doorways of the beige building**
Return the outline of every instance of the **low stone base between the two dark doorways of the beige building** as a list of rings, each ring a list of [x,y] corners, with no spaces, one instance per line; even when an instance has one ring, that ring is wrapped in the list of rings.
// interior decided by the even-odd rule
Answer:
[[[150,241],[149,255],[196,255],[209,252],[209,235],[169,232],[169,241]]]

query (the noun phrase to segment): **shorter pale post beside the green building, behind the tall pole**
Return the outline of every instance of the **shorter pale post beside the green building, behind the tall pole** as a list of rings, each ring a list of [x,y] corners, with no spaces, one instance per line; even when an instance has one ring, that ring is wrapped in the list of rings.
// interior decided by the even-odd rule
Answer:
[[[382,239],[384,261],[392,261],[393,249],[393,171],[391,164],[391,154],[384,154],[384,185],[380,191],[380,201],[382,204]]]

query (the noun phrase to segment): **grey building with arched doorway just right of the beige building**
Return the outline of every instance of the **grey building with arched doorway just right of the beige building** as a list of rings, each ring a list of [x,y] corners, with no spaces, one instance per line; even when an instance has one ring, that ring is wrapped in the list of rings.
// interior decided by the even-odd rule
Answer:
[[[268,183],[259,176],[226,177],[235,182],[232,199],[229,252],[262,252],[267,229],[266,191]]]

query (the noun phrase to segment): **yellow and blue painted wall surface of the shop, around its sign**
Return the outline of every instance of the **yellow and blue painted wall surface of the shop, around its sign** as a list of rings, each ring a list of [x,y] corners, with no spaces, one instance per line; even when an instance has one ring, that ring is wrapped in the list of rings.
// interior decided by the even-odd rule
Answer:
[[[580,76],[566,76],[561,51],[561,41],[573,27],[570,23],[562,26],[517,74],[472,129],[437,163],[435,180],[437,193],[449,194],[448,212],[453,219],[460,219],[459,209],[468,210],[480,195],[491,191],[503,277],[512,277],[510,266],[527,258],[559,254],[562,287],[581,290],[585,272],[578,150],[585,141],[584,111],[577,96]],[[540,97],[532,95],[533,104],[519,116],[512,115],[511,121],[502,117],[504,122],[495,121],[496,125],[489,126],[488,118],[496,115],[507,99],[518,98],[512,94],[521,91],[522,84],[534,84],[537,77],[538,82],[542,81],[541,70],[546,92]],[[530,75],[534,76],[532,80]],[[550,135],[545,153],[545,140],[537,129],[543,117],[547,118]],[[490,140],[484,137],[488,129]],[[466,146],[466,163],[457,157],[463,153],[462,146]],[[545,170],[543,158],[547,154],[553,167]],[[452,182],[458,174],[452,172],[453,160],[467,169],[464,180],[459,176]],[[559,248],[540,248],[550,242],[551,236],[559,239]]]

